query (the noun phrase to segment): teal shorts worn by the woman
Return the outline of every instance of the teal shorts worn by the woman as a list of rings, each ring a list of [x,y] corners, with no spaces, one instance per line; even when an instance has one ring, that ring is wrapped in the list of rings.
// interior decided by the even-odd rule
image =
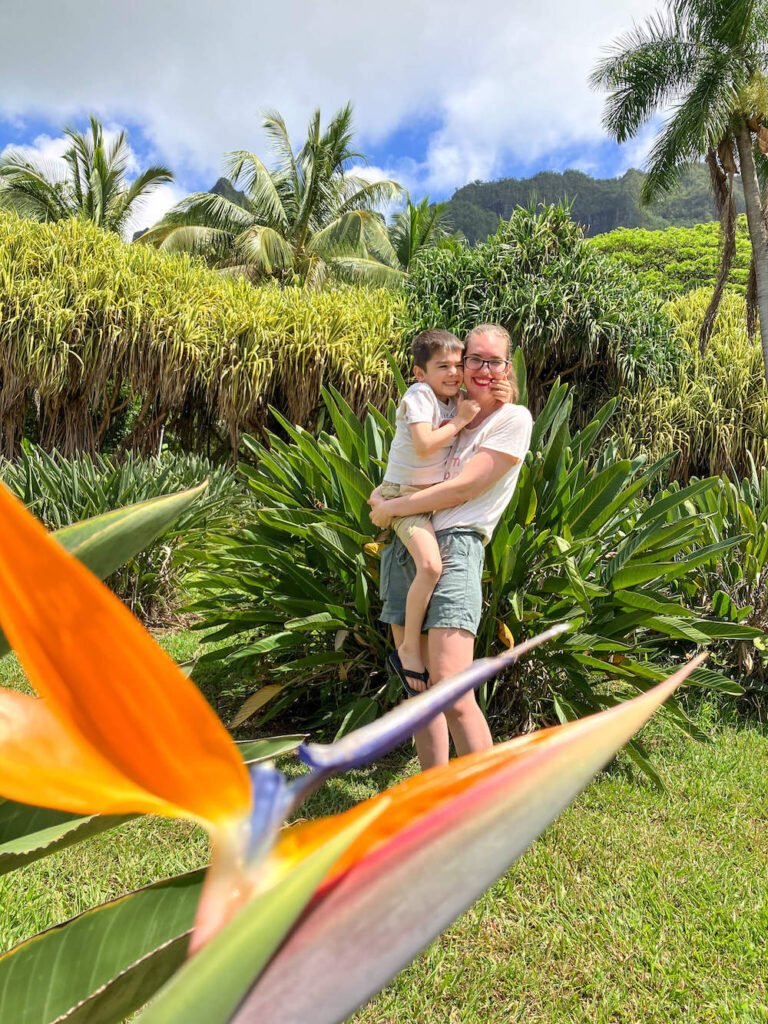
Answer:
[[[437,544],[442,572],[424,617],[424,632],[431,629],[467,630],[477,635],[482,614],[482,564],[485,549],[473,529],[438,529]],[[416,575],[416,565],[398,537],[381,555],[380,593],[384,606],[379,617],[394,626],[406,624],[406,598]]]

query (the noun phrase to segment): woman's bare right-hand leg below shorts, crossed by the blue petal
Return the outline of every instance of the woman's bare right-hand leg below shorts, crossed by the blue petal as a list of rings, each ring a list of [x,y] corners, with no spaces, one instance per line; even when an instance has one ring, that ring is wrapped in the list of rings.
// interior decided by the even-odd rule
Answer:
[[[439,683],[458,672],[468,669],[474,658],[475,638],[467,630],[431,629],[428,638],[428,658],[430,681]],[[445,720],[459,757],[473,754],[476,751],[486,751],[494,745],[488,723],[475,699],[474,691],[465,693],[463,697],[445,712]],[[426,731],[426,730],[424,730]],[[416,749],[421,759],[419,737],[416,738]],[[429,755],[427,754],[427,760]],[[431,767],[422,760],[422,768]],[[447,761],[447,754],[445,755]],[[436,762],[442,764],[444,762]]]

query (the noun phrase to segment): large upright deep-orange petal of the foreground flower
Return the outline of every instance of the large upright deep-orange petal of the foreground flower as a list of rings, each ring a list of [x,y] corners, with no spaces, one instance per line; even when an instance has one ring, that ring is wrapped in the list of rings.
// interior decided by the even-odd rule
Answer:
[[[247,770],[195,684],[3,486],[0,537],[0,625],[70,746],[202,821],[247,814]]]

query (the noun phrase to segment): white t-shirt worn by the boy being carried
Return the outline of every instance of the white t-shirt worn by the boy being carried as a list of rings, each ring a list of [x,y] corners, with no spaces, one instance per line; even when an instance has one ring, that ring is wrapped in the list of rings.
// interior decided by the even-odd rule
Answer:
[[[431,455],[417,455],[411,437],[410,424],[430,423],[436,429],[444,420],[453,420],[458,399],[440,401],[429,384],[412,384],[400,399],[395,418],[394,439],[389,450],[389,461],[384,479],[390,483],[410,483],[426,486],[439,483],[445,476],[445,460],[453,438]]]

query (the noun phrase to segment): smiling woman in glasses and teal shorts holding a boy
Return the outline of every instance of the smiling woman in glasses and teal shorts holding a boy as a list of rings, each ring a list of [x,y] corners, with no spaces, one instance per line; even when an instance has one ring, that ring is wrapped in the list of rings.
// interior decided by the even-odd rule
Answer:
[[[490,392],[492,382],[505,376],[516,390],[509,335],[495,324],[474,328],[466,338],[464,386],[480,411],[457,437],[445,479],[390,501],[384,501],[377,489],[369,500],[377,526],[387,526],[395,516],[434,513],[442,574],[424,620],[424,660],[433,683],[462,672],[474,659],[484,546],[512,498],[530,444],[532,421],[527,409],[503,404]],[[381,617],[391,624],[395,646],[402,642],[406,595],[413,573],[413,561],[395,540],[384,550],[381,565]],[[460,757],[493,745],[473,692],[416,734],[422,769],[447,762],[449,733]]]

